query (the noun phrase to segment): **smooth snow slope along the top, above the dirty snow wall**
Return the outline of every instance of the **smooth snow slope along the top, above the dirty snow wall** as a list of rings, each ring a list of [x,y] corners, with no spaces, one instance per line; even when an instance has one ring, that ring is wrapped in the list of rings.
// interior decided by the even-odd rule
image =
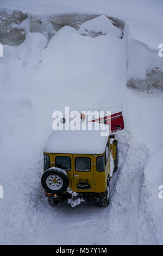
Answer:
[[[156,26],[162,26],[162,2],[155,0],[1,0],[1,7],[29,11],[30,13],[65,13],[82,12],[111,14],[123,20],[130,19],[148,22]]]

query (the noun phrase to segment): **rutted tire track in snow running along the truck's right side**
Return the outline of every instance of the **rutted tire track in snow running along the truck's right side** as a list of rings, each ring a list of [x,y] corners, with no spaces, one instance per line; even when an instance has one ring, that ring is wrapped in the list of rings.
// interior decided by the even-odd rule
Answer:
[[[126,141],[129,142],[126,144]],[[136,244],[143,164],[147,149],[137,144],[130,133],[119,139],[120,173],[108,209],[104,209],[99,229],[105,233],[107,244]]]

